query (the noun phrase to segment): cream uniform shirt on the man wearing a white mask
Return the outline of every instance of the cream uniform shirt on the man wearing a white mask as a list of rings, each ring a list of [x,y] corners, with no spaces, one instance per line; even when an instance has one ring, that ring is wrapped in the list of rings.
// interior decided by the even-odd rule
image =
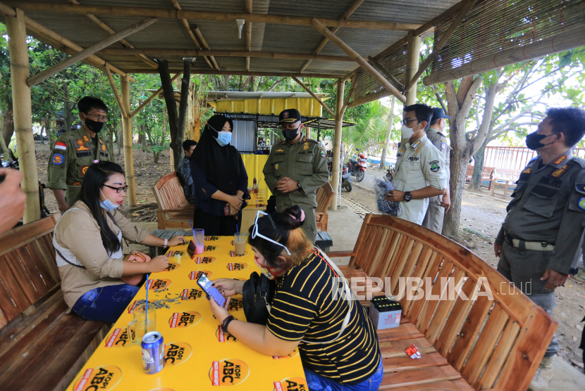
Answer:
[[[433,186],[444,190],[448,174],[445,169],[445,160],[438,149],[423,134],[412,146],[410,141],[402,143],[396,155],[396,174],[392,186],[400,191],[415,191]],[[426,208],[429,207],[429,198],[422,200],[401,201],[401,219],[416,224],[422,224]]]

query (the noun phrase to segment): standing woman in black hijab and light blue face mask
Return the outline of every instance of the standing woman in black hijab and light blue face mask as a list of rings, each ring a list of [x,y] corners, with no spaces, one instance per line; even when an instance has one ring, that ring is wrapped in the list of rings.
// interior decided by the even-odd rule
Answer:
[[[236,231],[240,209],[246,206],[248,175],[242,157],[230,146],[233,122],[223,115],[209,118],[191,156],[191,176],[197,191],[193,228],[205,235],[229,236]],[[227,213],[226,213],[227,212]]]

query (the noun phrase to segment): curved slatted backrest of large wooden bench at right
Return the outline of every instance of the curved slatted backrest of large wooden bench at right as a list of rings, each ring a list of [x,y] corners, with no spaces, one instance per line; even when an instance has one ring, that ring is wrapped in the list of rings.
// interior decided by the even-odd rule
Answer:
[[[469,385],[476,390],[526,390],[558,323],[498,271],[462,245],[386,215],[366,215],[354,252],[352,267],[371,277],[390,277],[387,294],[400,298],[400,277],[422,279],[419,288],[425,298],[404,295],[402,314]],[[477,300],[448,297],[447,277],[455,286],[462,283],[467,297],[474,297],[478,286],[486,293],[485,285],[477,283],[485,277],[493,300],[484,295]]]

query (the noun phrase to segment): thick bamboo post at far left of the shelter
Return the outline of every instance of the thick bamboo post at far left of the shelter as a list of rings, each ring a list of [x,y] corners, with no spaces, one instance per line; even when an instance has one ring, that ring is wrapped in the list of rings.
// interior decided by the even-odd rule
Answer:
[[[25,14],[17,8],[16,17],[6,16],[5,21],[6,30],[8,31],[8,51],[10,53],[16,148],[18,148],[20,169],[24,174],[20,186],[26,195],[23,222],[28,224],[41,218],[41,207],[39,205],[39,174],[35,155],[35,140],[32,138],[30,87],[26,84],[30,73]]]

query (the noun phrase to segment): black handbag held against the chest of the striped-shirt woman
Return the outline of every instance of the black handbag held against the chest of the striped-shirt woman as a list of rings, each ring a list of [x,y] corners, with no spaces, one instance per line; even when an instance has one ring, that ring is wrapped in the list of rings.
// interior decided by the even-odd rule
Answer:
[[[264,274],[256,271],[250,274],[250,279],[242,288],[242,301],[246,321],[266,325],[270,313],[270,302],[274,295],[276,282],[269,280]]]

